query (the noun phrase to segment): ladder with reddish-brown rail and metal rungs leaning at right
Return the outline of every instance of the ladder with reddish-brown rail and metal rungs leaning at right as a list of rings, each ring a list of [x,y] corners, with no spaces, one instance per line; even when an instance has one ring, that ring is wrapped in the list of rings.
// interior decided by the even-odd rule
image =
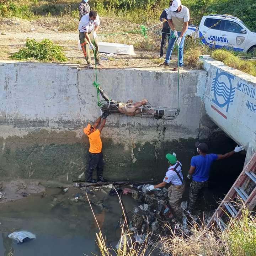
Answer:
[[[235,197],[240,197],[244,204],[249,208],[249,210],[254,209],[256,206],[256,186],[249,195],[244,191],[242,187],[244,183],[248,181],[248,179],[252,180],[256,184],[255,169],[256,153],[254,153],[250,161],[246,164],[241,174],[236,179],[235,183],[230,188],[223,201],[220,203],[219,207],[208,222],[207,228],[217,224],[217,226],[223,231],[226,227],[226,224],[221,217],[225,212],[229,213],[230,217],[232,218],[238,218],[241,216],[241,209],[239,208],[238,204],[234,202]]]

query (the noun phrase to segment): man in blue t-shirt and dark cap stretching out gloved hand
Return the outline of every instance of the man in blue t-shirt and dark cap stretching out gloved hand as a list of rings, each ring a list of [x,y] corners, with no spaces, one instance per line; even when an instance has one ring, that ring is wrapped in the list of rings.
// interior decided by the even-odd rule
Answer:
[[[244,150],[243,146],[236,146],[234,150],[224,155],[207,154],[208,146],[206,143],[196,142],[198,156],[191,158],[190,169],[188,171],[188,178],[192,176],[192,182],[190,184],[190,192],[188,198],[190,202],[188,204],[188,210],[193,213],[197,202],[201,202],[203,197],[203,188],[208,186],[208,179],[210,176],[210,166],[213,161],[229,158],[231,155]]]

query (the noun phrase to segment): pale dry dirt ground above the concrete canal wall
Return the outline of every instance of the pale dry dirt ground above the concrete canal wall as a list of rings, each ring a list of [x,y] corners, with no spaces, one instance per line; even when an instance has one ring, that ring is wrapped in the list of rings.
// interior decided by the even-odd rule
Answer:
[[[25,44],[26,38],[34,38],[41,41],[49,38],[60,46],[63,46],[68,64],[78,64],[80,68],[86,65],[81,50],[78,50],[78,33],[70,31],[72,27],[78,25],[78,20],[71,17],[43,17],[38,20],[28,21],[20,18],[5,18],[0,20],[0,61],[13,61],[9,57],[11,54]],[[71,27],[72,26],[72,27]],[[148,25],[148,27],[151,24]],[[145,39],[140,32],[124,33],[114,36],[100,36],[114,32],[130,31],[139,28],[138,24],[120,21],[114,18],[102,17],[98,41],[133,44],[136,56],[115,54],[107,56],[101,53],[102,67],[99,68],[159,68],[159,64],[164,59],[159,59],[159,49],[161,38],[159,32],[162,25],[148,32],[149,37]],[[73,29],[74,30],[74,29]],[[30,60],[31,61],[31,60]],[[36,61],[36,60],[32,60]],[[176,66],[176,56],[172,57],[170,68]],[[92,62],[94,64],[94,62]]]

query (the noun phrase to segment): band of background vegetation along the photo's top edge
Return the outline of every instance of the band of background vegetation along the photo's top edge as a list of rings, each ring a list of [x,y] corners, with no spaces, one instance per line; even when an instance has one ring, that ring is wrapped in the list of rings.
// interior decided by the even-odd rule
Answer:
[[[9,4],[13,0],[0,1],[0,16],[11,17],[12,12],[8,11]],[[5,4],[7,2],[7,4]],[[20,2],[20,5],[17,4]],[[77,10],[79,1],[75,0],[18,0],[15,5],[21,6],[26,4],[31,7],[31,11],[35,14],[47,15],[50,12],[52,15],[60,15],[60,12],[68,5],[71,5],[71,10]],[[169,1],[166,0],[90,0],[92,9],[97,10],[99,15],[114,14],[122,17],[133,18],[138,23],[152,20],[152,17],[158,16],[165,9]],[[199,25],[203,15],[208,14],[232,14],[239,17],[243,22],[249,25],[252,29],[256,29],[256,12],[255,0],[182,0],[182,4],[190,9],[191,20],[195,25]],[[5,5],[2,7],[2,5]],[[143,12],[141,12],[143,11]],[[11,13],[11,14],[10,14]],[[136,15],[137,14],[137,15]],[[153,15],[153,16],[152,16]],[[29,15],[30,16],[30,15]],[[20,15],[18,17],[21,17]],[[121,16],[120,16],[121,17]],[[22,18],[22,17],[21,17]],[[136,22],[137,23],[137,22]]]

